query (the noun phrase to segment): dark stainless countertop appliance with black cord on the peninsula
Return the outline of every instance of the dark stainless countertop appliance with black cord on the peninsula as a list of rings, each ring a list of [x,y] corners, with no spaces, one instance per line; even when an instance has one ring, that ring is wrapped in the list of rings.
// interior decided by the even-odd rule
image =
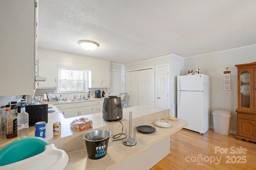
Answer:
[[[106,121],[118,121],[123,117],[122,100],[120,97],[110,95],[104,98],[102,118]]]

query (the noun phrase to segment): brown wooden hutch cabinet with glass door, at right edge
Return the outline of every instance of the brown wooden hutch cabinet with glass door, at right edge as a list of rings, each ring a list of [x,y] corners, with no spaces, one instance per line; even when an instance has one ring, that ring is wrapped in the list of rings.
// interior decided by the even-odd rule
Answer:
[[[256,63],[235,66],[238,71],[236,139],[256,142]]]

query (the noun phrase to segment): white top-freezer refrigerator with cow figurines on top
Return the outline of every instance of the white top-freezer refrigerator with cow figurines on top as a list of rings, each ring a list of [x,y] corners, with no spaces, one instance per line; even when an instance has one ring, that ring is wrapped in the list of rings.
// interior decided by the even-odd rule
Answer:
[[[210,76],[177,77],[177,117],[188,122],[185,129],[202,134],[210,129]]]

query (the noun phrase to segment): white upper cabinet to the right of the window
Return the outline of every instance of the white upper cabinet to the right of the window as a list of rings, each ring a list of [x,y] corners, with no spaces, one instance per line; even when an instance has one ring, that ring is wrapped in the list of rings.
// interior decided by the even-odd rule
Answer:
[[[93,65],[90,80],[90,88],[110,87],[110,68],[107,66]]]

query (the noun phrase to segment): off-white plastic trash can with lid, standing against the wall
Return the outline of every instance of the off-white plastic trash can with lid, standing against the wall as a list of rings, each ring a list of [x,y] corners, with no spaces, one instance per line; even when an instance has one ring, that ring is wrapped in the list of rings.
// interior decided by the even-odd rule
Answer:
[[[227,109],[214,109],[213,115],[213,126],[214,132],[222,135],[229,134],[231,112]]]

